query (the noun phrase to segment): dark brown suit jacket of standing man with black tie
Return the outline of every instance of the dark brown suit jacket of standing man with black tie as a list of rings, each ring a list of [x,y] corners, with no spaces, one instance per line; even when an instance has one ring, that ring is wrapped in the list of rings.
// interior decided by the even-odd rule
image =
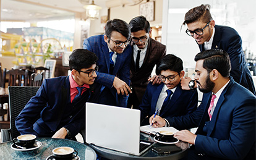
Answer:
[[[135,45],[135,44],[134,44]],[[142,67],[135,72],[135,62],[132,56],[130,64],[130,80],[132,91],[136,94],[140,103],[148,85],[148,78],[151,77],[151,72],[160,59],[166,55],[166,46],[152,38],[148,40],[148,48]]]

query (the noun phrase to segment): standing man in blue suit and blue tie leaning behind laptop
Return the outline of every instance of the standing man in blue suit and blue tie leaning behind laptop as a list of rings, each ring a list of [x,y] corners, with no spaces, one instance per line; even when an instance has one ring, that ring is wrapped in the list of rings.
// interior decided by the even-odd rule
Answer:
[[[130,28],[124,20],[106,23],[105,35],[83,41],[83,49],[95,53],[99,60],[98,77],[93,85],[93,103],[127,107],[130,90]]]

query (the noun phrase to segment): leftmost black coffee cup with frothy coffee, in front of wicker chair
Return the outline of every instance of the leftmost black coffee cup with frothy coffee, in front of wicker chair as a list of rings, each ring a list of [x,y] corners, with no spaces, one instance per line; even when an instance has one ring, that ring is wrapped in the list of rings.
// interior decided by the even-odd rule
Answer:
[[[25,148],[32,148],[35,144],[36,135],[27,134],[27,135],[20,135],[17,138],[14,138],[12,142],[16,146],[22,146]]]

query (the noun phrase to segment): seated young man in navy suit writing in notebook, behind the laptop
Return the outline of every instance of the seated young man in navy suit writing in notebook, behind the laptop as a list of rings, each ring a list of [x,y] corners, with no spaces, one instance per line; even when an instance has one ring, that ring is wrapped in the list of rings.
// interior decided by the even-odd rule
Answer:
[[[163,82],[160,85],[153,85],[150,82],[142,98],[141,125],[149,124],[149,117],[156,111],[158,116],[163,118],[173,116],[183,116],[197,109],[198,95],[197,90],[182,90],[181,78],[184,77],[183,62],[173,54],[164,56],[159,64],[156,65],[156,74]],[[168,90],[171,95],[168,97]],[[168,103],[164,103],[168,98]]]

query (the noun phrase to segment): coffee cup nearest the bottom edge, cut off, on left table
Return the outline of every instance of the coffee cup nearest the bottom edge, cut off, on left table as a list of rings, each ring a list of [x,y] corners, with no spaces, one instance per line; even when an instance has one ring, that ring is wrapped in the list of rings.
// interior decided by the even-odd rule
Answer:
[[[73,156],[74,153],[75,155]],[[69,146],[61,146],[53,149],[53,156],[56,159],[73,159],[77,154],[77,151]]]

